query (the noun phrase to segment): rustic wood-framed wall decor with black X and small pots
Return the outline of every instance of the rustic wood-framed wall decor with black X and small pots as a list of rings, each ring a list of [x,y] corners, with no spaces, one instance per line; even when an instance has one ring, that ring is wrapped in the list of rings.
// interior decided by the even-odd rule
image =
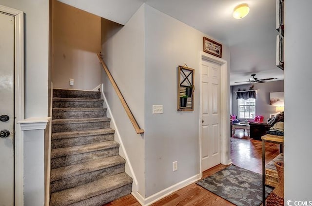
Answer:
[[[177,110],[194,111],[194,69],[178,67]]]

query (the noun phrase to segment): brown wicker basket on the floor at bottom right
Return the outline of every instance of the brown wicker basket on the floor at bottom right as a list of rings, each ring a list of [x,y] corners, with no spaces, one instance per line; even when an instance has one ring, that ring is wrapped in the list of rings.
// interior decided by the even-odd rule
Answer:
[[[278,173],[278,184],[266,200],[267,206],[284,206],[284,163],[274,163]]]

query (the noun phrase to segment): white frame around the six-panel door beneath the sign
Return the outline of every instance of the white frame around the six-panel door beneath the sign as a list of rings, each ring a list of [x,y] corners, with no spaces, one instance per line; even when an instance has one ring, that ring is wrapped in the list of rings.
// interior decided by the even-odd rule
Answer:
[[[201,171],[201,81],[202,81],[202,59],[217,63],[221,66],[221,164],[232,164],[230,154],[230,81],[228,62],[225,59],[218,58],[209,53],[200,51],[199,54],[199,173],[200,177],[203,176]]]

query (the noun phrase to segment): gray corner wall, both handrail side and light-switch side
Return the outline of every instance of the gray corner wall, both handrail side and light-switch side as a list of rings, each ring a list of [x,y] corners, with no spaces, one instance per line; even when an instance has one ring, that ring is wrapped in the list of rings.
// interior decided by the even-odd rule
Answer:
[[[102,24],[105,22],[109,23]],[[103,57],[145,130],[143,138],[135,134],[115,91],[102,74],[104,93],[137,175],[138,191],[143,197],[150,197],[200,173],[199,89],[195,89],[193,112],[177,112],[176,89],[177,67],[184,64],[195,69],[195,88],[199,88],[199,53],[205,34],[147,4],[121,29],[111,23],[106,26],[114,34],[102,36]],[[222,53],[230,63],[226,45]],[[163,114],[153,115],[153,104],[162,104]],[[176,172],[172,172],[174,161],[178,161]]]

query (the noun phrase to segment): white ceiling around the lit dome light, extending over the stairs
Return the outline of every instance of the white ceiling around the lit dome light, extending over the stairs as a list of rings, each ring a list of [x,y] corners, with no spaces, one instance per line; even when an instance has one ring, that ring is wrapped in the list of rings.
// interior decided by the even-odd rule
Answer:
[[[284,79],[275,66],[275,0],[59,0],[79,9],[125,24],[146,2],[157,10],[214,37],[230,47],[230,84],[258,79]],[[233,9],[248,3],[247,17],[234,19]],[[241,83],[240,83],[241,84]]]

